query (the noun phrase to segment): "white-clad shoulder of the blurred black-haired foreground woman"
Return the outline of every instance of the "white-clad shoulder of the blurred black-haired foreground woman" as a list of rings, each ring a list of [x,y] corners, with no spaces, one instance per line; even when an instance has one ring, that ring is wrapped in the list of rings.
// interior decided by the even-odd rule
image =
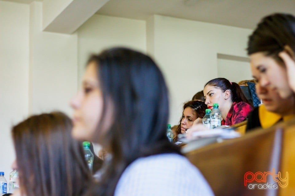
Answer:
[[[178,154],[159,154],[133,161],[121,175],[115,190],[116,196],[207,193],[213,194],[201,172]]]

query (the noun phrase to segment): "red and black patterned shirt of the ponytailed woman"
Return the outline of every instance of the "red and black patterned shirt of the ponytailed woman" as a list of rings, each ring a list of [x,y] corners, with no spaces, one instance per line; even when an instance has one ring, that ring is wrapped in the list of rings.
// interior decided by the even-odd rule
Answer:
[[[253,107],[244,101],[239,103],[234,102],[231,105],[230,111],[227,113],[226,119],[221,121],[221,125],[231,126],[241,123],[246,120],[252,110]]]

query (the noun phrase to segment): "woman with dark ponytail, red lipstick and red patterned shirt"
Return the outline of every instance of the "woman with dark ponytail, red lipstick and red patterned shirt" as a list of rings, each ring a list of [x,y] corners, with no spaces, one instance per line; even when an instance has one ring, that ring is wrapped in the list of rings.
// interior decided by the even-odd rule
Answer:
[[[225,78],[215,78],[208,81],[204,86],[205,104],[209,109],[214,103],[219,104],[222,115],[222,125],[234,125],[246,120],[253,110],[243,94],[240,86],[235,82],[230,82]]]

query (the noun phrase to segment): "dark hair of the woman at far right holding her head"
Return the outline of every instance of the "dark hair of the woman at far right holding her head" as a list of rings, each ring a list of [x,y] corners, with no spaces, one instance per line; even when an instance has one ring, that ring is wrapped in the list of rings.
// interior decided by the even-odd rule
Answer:
[[[283,65],[278,53],[288,45],[295,51],[295,17],[291,14],[275,13],[264,17],[249,36],[247,52],[265,52]]]

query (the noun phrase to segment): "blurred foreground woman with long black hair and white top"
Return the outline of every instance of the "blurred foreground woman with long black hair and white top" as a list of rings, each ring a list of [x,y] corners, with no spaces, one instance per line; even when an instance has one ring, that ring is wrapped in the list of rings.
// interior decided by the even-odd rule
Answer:
[[[213,195],[166,137],[168,90],[150,57],[126,48],[93,55],[82,88],[71,101],[72,134],[110,154],[87,195]]]

